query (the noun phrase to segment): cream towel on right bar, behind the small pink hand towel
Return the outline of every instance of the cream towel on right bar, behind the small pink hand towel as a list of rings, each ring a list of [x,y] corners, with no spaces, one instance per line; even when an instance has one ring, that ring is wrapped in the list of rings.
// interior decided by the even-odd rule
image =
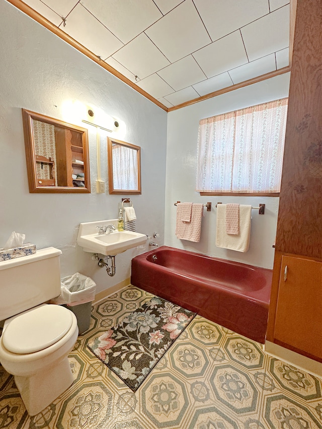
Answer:
[[[250,245],[252,206],[239,205],[239,233],[226,233],[226,204],[217,204],[216,246],[247,252]]]

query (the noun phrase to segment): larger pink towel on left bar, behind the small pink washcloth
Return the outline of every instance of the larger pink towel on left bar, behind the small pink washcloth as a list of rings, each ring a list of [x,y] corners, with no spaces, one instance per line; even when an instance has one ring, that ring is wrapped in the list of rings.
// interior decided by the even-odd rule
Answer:
[[[176,235],[179,240],[189,240],[198,243],[200,241],[201,233],[201,218],[203,216],[203,204],[192,204],[191,220],[185,222],[182,220],[182,205],[177,204],[177,223]]]

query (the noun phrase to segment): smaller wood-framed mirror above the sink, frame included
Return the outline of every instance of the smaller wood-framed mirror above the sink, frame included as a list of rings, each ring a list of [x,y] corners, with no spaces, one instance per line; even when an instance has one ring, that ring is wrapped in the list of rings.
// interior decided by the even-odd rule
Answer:
[[[110,194],[141,194],[141,148],[108,138]]]

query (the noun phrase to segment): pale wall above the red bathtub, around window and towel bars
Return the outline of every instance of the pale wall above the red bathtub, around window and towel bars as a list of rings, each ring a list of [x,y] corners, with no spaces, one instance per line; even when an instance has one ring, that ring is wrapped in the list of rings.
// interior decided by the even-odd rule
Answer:
[[[199,120],[202,118],[287,97],[288,90],[289,73],[168,113],[166,245],[257,267],[273,268],[274,249],[272,245],[275,241],[279,198],[201,197],[199,193],[195,192],[198,126]],[[211,212],[204,209],[199,243],[177,239],[175,235],[176,207],[174,206],[177,201],[203,204],[208,201],[212,202]],[[252,204],[255,207],[258,207],[260,203],[266,205],[265,215],[259,215],[258,211],[252,210],[251,241],[248,252],[216,247],[215,205],[217,202]]]

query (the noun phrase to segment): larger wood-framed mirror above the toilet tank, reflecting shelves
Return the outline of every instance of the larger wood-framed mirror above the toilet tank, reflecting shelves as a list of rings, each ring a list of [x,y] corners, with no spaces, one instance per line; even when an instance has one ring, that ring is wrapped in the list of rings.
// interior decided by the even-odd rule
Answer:
[[[90,193],[88,133],[22,109],[29,192]]]

